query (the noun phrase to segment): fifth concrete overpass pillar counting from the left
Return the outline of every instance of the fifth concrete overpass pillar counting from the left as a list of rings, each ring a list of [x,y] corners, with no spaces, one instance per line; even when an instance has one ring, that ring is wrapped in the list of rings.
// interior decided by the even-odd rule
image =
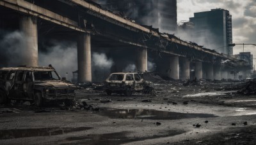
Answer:
[[[180,58],[180,79],[189,79],[189,60]]]

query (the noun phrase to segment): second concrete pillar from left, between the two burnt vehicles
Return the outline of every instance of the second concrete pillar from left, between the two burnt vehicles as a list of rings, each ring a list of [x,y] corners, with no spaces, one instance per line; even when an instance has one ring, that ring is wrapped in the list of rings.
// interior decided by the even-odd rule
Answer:
[[[92,82],[91,36],[81,34],[77,41],[78,81]]]

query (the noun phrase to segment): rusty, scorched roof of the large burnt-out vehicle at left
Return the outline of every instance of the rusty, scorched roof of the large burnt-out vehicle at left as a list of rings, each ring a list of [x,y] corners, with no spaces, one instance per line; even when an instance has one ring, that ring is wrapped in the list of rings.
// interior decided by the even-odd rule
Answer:
[[[0,67],[0,71],[55,71],[52,67]]]

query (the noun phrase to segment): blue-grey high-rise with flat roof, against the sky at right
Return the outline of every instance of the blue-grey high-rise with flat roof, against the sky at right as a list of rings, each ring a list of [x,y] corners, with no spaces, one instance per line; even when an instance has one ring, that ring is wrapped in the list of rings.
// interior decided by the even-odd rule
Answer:
[[[217,52],[233,55],[232,44],[232,16],[228,10],[212,9],[194,13],[190,22],[195,24],[195,35],[197,42],[206,48]]]

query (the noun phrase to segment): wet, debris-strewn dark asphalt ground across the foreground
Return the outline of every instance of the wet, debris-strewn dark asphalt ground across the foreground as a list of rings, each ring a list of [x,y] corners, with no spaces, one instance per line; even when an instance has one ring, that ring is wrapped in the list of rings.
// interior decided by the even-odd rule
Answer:
[[[256,144],[255,95],[244,82],[152,83],[157,96],[76,91],[75,107],[0,106],[0,144]]]

